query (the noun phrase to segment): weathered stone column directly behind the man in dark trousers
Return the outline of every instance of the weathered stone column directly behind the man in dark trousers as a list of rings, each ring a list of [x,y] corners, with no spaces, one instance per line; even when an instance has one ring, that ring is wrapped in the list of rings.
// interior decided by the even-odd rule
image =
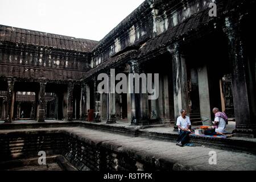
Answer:
[[[176,44],[172,51],[172,78],[174,89],[174,117],[175,123],[180,116],[180,110],[185,109],[189,114],[188,88],[187,88],[187,67],[185,58],[181,55],[179,46]]]

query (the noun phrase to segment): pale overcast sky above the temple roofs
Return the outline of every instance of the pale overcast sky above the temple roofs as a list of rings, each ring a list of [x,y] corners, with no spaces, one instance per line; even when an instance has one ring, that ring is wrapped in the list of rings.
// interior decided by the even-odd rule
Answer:
[[[101,40],[144,0],[0,0],[0,24]]]

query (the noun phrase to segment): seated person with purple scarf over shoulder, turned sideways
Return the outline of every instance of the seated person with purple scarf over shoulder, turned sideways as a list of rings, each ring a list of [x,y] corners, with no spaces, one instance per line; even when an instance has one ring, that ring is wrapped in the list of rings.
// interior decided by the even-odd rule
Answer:
[[[226,121],[228,117],[226,117],[225,113],[221,113],[217,107],[214,107],[212,112],[215,115],[214,118],[214,129],[204,131],[205,135],[224,135],[226,133]]]

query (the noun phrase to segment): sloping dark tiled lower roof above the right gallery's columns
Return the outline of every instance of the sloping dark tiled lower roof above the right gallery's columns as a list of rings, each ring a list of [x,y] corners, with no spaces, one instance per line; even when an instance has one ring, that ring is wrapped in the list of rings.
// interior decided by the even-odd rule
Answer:
[[[227,13],[236,12],[234,10],[241,7],[241,5],[245,5],[245,2],[247,3],[247,7],[250,7],[250,1],[245,0],[219,1],[217,6],[217,17],[210,17],[209,9],[205,9],[192,15],[190,18],[184,20],[184,22],[177,24],[177,26],[169,28],[166,32],[163,32],[163,34],[148,40],[141,48],[141,53],[138,58],[142,59],[145,55],[154,53],[157,49],[162,49],[187,35],[192,35],[192,32],[197,32],[200,28],[208,27],[210,23],[213,24],[215,21],[217,22],[217,20],[223,19],[223,16]],[[254,5],[252,2],[251,4],[251,6]]]

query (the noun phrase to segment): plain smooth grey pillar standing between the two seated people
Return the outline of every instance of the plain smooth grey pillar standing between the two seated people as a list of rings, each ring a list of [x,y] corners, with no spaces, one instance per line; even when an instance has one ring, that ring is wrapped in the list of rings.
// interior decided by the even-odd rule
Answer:
[[[200,103],[200,115],[203,125],[210,125],[210,95],[209,95],[209,83],[207,66],[197,68],[198,87],[199,87],[199,103]],[[208,122],[207,122],[208,120]]]

